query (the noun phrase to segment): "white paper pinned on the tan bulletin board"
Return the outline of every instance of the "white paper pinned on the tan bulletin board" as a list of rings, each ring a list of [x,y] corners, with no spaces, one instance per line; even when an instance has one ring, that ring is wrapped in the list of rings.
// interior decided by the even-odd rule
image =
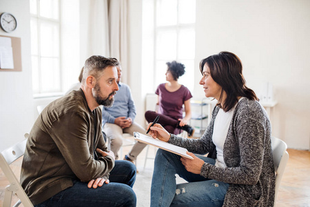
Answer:
[[[13,49],[10,37],[0,37],[0,68],[14,69]]]

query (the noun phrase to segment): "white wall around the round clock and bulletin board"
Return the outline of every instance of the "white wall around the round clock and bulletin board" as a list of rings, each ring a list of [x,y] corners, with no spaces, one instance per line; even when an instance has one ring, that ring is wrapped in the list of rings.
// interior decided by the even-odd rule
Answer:
[[[32,72],[30,68],[29,1],[1,0],[0,13],[17,19],[17,29],[0,35],[21,38],[21,72],[0,72],[0,150],[21,141],[33,124]]]

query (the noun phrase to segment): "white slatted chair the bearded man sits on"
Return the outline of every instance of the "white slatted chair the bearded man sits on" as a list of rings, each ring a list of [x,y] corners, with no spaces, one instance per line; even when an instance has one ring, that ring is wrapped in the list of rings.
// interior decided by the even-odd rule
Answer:
[[[28,137],[28,134],[25,134],[25,137]],[[26,142],[27,139],[24,139],[23,141],[20,141],[19,143],[0,153],[0,167],[10,182],[10,185],[6,186],[6,191],[4,192],[3,207],[11,206],[13,193],[16,193],[17,197],[20,199],[16,204],[14,204],[14,206],[19,206],[19,204],[22,203],[25,207],[33,207],[30,199],[25,194],[23,187],[21,187],[21,184],[19,184],[19,180],[10,168],[10,164],[12,164],[12,162],[23,156]]]

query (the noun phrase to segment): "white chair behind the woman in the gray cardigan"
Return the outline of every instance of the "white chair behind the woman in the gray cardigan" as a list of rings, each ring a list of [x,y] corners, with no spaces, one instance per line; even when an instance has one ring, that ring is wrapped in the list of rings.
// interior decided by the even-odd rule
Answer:
[[[287,152],[287,144],[281,139],[273,137],[271,141],[272,156],[274,170],[276,171],[276,188],[274,197],[274,206],[276,206],[276,199],[278,196],[278,190],[280,187],[280,181],[287,166],[287,161],[289,160],[289,153]]]

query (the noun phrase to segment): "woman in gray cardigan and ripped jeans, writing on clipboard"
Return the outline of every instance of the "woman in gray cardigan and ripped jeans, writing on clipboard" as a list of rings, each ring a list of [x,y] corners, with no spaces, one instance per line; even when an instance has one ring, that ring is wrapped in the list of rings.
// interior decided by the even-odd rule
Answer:
[[[200,139],[176,137],[160,124],[151,127],[152,137],[187,148],[194,157],[157,151],[151,206],[273,206],[271,124],[245,86],[240,59],[220,52],[200,61],[200,72],[205,96],[218,101],[211,123]],[[176,184],[176,174],[188,183]]]

